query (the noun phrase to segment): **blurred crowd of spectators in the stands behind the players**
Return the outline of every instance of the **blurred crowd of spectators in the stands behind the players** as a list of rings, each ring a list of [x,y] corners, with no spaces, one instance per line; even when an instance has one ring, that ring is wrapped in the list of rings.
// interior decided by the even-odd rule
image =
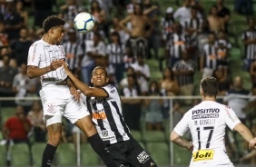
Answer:
[[[174,100],[170,108],[169,100],[153,97],[200,95],[200,81],[210,75],[220,82],[220,102],[256,135],[253,8],[254,0],[0,0],[0,97],[38,97],[40,78],[26,75],[28,49],[42,38],[44,19],[59,15],[66,22],[63,45],[70,69],[87,84],[94,66],[107,69],[110,83],[132,98],[123,100],[123,116],[139,142],[164,142],[168,148],[170,114],[175,125],[200,99]],[[80,12],[94,15],[92,32],[75,31]],[[133,99],[138,96],[152,97]],[[40,101],[0,103],[2,140],[46,141]],[[28,129],[15,119],[26,120]],[[62,142],[76,144],[76,133],[65,121]],[[235,133],[226,134],[231,159],[256,164],[256,153]],[[81,142],[86,143],[82,133]]]

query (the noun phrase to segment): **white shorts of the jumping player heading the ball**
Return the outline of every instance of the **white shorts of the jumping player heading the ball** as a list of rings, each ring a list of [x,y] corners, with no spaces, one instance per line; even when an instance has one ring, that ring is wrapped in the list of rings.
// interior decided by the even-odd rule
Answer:
[[[71,123],[75,123],[84,116],[90,115],[82,100],[75,101],[66,85],[43,87],[40,91],[40,98],[43,104],[46,126],[53,123],[62,123],[63,116]]]

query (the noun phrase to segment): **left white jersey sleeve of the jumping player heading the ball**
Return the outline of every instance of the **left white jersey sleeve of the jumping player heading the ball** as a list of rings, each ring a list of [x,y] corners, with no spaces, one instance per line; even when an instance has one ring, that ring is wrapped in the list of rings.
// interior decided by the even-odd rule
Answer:
[[[30,46],[27,57],[27,65],[39,66],[42,46],[42,44],[38,43],[34,43]]]

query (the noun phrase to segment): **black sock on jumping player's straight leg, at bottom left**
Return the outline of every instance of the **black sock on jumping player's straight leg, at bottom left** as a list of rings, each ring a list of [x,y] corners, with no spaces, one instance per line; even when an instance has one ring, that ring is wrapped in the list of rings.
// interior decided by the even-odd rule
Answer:
[[[57,147],[47,143],[42,159],[42,167],[51,167]]]

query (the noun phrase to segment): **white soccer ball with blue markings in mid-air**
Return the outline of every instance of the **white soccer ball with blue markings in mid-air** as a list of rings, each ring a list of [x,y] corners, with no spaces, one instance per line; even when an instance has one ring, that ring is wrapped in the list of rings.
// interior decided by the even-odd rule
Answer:
[[[94,16],[87,12],[82,12],[74,17],[74,28],[79,33],[90,32],[91,30],[93,30],[94,24]]]

